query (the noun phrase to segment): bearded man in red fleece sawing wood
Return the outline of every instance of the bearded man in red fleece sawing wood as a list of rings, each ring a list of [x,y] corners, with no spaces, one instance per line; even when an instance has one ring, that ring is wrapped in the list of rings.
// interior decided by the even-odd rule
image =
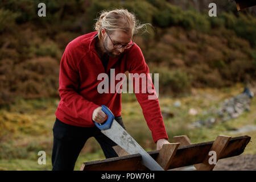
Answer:
[[[149,73],[141,49],[133,42],[133,35],[144,25],[127,10],[103,11],[96,23],[96,31],[79,36],[66,47],[60,62],[60,102],[53,126],[53,170],[73,170],[86,140],[96,138],[106,158],[117,156],[116,146],[96,127],[107,115],[101,110],[106,105],[123,127],[121,93],[99,93],[97,79],[101,73]],[[154,88],[154,86],[153,86]],[[156,150],[169,143],[159,102],[148,100],[148,93],[135,93]]]

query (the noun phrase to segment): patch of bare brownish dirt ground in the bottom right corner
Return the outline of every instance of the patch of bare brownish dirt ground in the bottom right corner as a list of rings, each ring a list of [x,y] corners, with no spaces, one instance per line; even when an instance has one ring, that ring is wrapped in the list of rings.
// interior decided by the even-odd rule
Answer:
[[[238,155],[220,159],[213,171],[256,171],[256,155]]]

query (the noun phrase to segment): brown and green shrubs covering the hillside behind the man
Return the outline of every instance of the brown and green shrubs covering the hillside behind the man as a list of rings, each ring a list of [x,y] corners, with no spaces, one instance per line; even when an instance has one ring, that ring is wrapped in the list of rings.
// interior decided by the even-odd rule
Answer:
[[[44,18],[37,15],[40,2],[47,5]],[[17,96],[59,98],[64,48],[94,31],[101,10],[116,8],[153,24],[150,34],[138,34],[135,42],[160,73],[162,92],[175,95],[191,85],[219,87],[256,78],[256,18],[246,13],[209,17],[164,0],[2,0],[0,7],[0,106]]]

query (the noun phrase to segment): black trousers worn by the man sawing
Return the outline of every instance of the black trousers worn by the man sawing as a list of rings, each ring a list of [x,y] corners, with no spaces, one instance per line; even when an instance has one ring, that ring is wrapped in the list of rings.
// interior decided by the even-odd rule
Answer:
[[[115,117],[115,120],[125,129],[121,116]],[[72,171],[86,140],[90,137],[94,137],[100,143],[106,158],[118,156],[112,148],[117,144],[102,134],[96,126],[72,126],[56,118],[53,126],[52,170]]]

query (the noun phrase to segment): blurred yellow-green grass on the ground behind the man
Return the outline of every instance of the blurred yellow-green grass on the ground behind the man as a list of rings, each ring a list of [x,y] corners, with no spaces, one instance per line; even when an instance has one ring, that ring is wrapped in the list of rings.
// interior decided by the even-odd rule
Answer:
[[[165,112],[173,117],[164,118],[169,141],[174,142],[176,135],[187,135],[192,143],[208,142],[217,135],[238,137],[249,135],[251,142],[243,154],[256,154],[256,131],[232,134],[230,131],[246,125],[256,125],[256,99],[251,100],[251,111],[245,112],[236,119],[225,123],[216,123],[211,128],[191,128],[196,119],[208,117],[205,110],[217,106],[225,98],[233,97],[243,91],[241,85],[222,89],[196,89],[191,96],[170,98],[160,96],[159,104]],[[181,102],[175,107],[175,101]],[[56,99],[22,100],[0,110],[0,170],[51,170],[52,127],[55,122]],[[197,115],[189,115],[190,108],[198,111]],[[134,94],[123,94],[122,117],[127,131],[146,151],[155,150],[151,132],[143,117],[142,109]],[[38,151],[46,151],[46,165],[38,164]],[[75,170],[79,170],[83,162],[105,159],[100,144],[90,138],[77,159]]]

